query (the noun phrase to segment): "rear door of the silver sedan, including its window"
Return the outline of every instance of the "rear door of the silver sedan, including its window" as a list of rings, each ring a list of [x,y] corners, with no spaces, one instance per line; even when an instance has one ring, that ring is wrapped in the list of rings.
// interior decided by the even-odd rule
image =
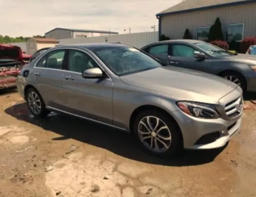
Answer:
[[[66,49],[57,49],[45,54],[32,70],[34,86],[37,88],[46,106],[62,104],[63,67],[67,63]]]

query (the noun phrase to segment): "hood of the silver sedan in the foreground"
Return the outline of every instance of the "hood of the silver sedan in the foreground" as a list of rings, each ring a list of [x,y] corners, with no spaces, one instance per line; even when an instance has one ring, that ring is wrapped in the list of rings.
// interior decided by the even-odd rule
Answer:
[[[237,87],[219,76],[174,66],[121,76],[120,79],[128,85],[167,94],[176,100],[213,104],[218,104],[221,97]]]

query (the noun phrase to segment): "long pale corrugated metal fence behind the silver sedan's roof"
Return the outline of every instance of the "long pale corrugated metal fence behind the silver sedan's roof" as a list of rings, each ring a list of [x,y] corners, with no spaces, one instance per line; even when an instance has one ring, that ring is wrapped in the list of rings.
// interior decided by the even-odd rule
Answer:
[[[80,44],[80,43],[102,43],[102,42],[121,42],[125,45],[132,45],[137,48],[141,48],[144,45],[151,44],[158,41],[158,32],[142,32],[133,34],[119,34],[98,36],[89,38],[76,38],[76,39],[61,39],[60,45],[64,44]]]

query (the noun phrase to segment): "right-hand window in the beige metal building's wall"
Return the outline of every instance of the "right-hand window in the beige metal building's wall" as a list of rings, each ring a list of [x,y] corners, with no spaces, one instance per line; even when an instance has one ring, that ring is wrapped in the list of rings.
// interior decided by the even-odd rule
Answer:
[[[230,24],[226,25],[225,37],[228,42],[242,41],[244,38],[245,24]]]

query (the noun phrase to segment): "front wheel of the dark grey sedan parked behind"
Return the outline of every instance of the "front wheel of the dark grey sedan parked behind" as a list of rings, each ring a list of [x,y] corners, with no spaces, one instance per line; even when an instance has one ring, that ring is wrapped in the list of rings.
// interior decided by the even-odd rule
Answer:
[[[237,72],[227,71],[220,74],[220,76],[224,77],[226,80],[229,80],[239,85],[242,88],[243,92],[246,92],[246,80],[242,74]]]

